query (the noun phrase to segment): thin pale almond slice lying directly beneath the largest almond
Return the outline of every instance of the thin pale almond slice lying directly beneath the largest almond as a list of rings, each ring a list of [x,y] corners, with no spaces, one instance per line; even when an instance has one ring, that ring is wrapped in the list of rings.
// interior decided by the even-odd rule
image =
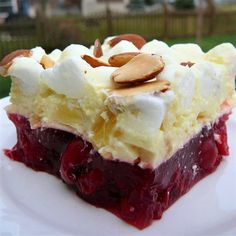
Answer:
[[[112,94],[117,94],[120,96],[132,96],[140,93],[153,92],[153,94],[158,92],[165,92],[170,89],[170,82],[167,80],[155,80],[139,84],[132,87],[121,87],[111,91]]]

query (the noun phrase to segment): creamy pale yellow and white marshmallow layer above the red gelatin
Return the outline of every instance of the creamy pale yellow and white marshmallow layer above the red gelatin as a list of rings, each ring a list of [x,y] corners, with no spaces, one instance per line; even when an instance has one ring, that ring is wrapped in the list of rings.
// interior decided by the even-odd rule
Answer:
[[[8,70],[13,77],[14,108],[24,97],[32,126],[33,120],[64,125],[88,139],[104,158],[133,162],[140,157],[142,165],[156,167],[202,126],[215,121],[225,101],[232,106],[236,75],[232,44],[204,53],[196,44],[169,47],[158,40],[141,49],[126,40],[110,47],[111,38],[104,41],[99,60],[108,62],[112,55],[124,52],[158,54],[165,67],[153,80],[170,81],[170,90],[121,95],[111,80],[117,67],[93,68],[81,58],[93,56],[93,46],[72,44],[52,51],[47,56],[55,65],[48,69],[40,65],[45,51],[36,47],[31,57],[15,58]],[[184,66],[187,62],[193,64]]]

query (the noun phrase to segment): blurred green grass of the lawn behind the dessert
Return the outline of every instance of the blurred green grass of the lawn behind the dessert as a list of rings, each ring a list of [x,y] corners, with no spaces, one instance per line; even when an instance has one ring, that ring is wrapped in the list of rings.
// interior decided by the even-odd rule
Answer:
[[[96,38],[96,37],[95,37]],[[187,42],[195,42],[194,38],[186,38],[186,39],[169,39],[165,40],[169,45],[173,45],[175,43],[187,43]],[[202,49],[206,52],[212,47],[223,43],[230,42],[234,46],[236,46],[236,34],[228,34],[228,35],[218,35],[218,36],[209,36],[204,37],[201,42]],[[8,96],[10,90],[10,79],[2,78],[0,76],[0,98]]]

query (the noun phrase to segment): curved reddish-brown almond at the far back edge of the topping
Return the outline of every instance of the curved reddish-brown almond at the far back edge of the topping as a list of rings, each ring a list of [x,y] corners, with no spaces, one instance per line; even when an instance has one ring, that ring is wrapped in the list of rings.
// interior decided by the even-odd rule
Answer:
[[[115,38],[111,39],[108,44],[111,47],[114,47],[117,43],[119,43],[121,40],[127,40],[133,43],[138,49],[140,49],[145,43],[146,40],[137,34],[121,34],[116,36]]]

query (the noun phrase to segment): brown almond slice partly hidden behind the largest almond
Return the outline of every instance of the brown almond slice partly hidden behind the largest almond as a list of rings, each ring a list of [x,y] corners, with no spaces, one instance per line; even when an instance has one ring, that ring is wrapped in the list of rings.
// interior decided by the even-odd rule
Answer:
[[[108,62],[111,66],[121,67],[129,62],[132,58],[140,54],[139,52],[125,52],[113,55],[109,58]]]

